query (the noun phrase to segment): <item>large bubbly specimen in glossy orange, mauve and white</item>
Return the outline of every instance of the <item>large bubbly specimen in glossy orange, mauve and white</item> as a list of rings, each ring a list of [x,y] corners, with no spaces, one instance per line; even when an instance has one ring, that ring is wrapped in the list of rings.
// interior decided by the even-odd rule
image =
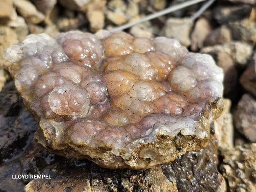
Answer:
[[[52,153],[144,169],[206,146],[223,72],[175,39],[69,31],[29,35],[4,59]]]

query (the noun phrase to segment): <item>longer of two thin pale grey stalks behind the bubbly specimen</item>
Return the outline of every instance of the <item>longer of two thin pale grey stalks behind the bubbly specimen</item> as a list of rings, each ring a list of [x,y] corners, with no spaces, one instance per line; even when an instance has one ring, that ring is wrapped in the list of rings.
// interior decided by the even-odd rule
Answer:
[[[131,22],[131,23],[127,23],[127,24],[124,24],[124,25],[121,25],[119,27],[115,27],[111,30],[109,30],[111,33],[115,33],[117,31],[121,31],[121,30],[124,30],[124,29],[128,29],[129,27],[132,27],[134,25],[137,25],[139,23],[142,23],[142,22],[145,22],[145,21],[148,21],[148,20],[151,20],[151,19],[154,19],[154,18],[157,18],[159,16],[162,16],[162,15],[165,15],[167,13],[170,13],[170,12],[173,12],[173,11],[177,11],[177,10],[180,10],[182,8],[185,8],[185,7],[188,7],[190,5],[193,5],[193,4],[196,4],[196,3],[200,3],[202,1],[206,1],[206,0],[191,0],[191,1],[186,1],[184,3],[181,3],[181,4],[178,4],[178,5],[173,5],[171,7],[168,7],[162,11],[158,11],[158,12],[155,12],[153,14],[150,14],[150,15],[147,15],[146,17],[142,18],[142,19],[139,19],[139,20],[136,20],[134,22]]]

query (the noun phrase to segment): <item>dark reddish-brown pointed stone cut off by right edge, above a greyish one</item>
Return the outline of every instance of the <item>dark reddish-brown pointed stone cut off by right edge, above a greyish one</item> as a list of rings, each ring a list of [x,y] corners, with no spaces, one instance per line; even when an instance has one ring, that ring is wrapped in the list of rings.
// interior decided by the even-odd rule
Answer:
[[[256,53],[241,75],[239,82],[244,89],[256,97]]]

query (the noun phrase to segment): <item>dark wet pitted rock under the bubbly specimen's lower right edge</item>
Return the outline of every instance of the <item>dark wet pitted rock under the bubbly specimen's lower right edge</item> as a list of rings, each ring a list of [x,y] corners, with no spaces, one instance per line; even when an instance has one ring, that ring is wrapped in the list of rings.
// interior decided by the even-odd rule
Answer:
[[[226,191],[226,183],[217,169],[217,139],[211,135],[209,144],[200,151],[188,152],[161,169],[179,192]]]

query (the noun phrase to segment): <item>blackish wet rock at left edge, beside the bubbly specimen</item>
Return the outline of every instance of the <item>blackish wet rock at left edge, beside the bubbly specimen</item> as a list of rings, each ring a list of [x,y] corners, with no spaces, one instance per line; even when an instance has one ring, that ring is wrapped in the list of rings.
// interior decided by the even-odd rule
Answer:
[[[0,92],[0,163],[15,159],[29,145],[35,121],[16,91],[13,82]]]

